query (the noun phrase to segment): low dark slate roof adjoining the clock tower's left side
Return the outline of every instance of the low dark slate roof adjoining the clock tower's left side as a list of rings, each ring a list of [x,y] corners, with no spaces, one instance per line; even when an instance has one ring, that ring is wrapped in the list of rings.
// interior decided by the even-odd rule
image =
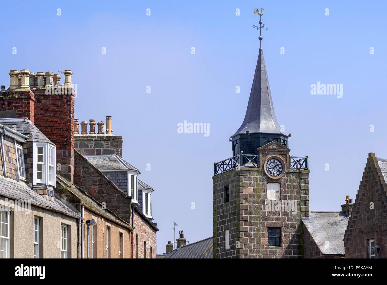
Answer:
[[[165,258],[212,258],[213,238],[205,238],[168,252]]]

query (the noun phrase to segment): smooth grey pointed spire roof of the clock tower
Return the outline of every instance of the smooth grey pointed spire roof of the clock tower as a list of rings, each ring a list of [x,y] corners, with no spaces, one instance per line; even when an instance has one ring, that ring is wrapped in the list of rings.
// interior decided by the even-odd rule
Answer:
[[[231,137],[242,133],[244,134],[246,131],[250,131],[250,133],[282,134],[283,136],[288,137],[288,135],[281,132],[281,127],[279,126],[276,114],[274,113],[262,48],[259,49],[257,66],[255,67],[245,119],[238,131]]]

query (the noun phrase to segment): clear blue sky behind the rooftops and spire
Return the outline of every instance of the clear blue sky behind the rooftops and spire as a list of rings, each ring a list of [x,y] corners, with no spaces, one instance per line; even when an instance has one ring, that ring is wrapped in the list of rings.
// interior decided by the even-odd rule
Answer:
[[[173,240],[173,222],[189,242],[212,235],[213,162],[231,157],[229,136],[245,116],[259,51],[255,8],[264,7],[262,21],[269,28],[262,31],[262,48],[277,120],[292,133],[291,155],[310,158],[310,209],[337,211],[346,195],[355,198],[368,153],[387,158],[386,6],[384,1],[6,2],[0,84],[8,88],[11,69],[72,70],[78,85],[75,117],[112,116],[113,134],[124,139],[123,158],[155,189],[157,252],[163,253]],[[317,81],[342,84],[342,98],[311,95]],[[209,136],[178,133],[177,124],[185,120],[209,123]]]

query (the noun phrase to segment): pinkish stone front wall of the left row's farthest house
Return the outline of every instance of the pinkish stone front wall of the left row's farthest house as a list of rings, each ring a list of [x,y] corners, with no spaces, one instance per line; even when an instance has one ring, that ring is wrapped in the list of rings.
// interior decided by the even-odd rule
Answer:
[[[138,245],[136,245],[138,235]],[[156,230],[134,210],[134,257],[144,258],[144,242],[146,242],[146,258],[156,258]],[[151,257],[152,247],[152,257]],[[138,248],[138,254],[137,254]]]

